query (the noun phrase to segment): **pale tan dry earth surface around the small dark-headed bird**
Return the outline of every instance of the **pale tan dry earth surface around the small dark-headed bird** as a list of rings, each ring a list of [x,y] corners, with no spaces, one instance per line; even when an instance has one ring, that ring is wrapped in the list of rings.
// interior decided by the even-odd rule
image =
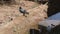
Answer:
[[[21,1],[21,3],[0,6],[0,34],[28,34],[30,28],[37,29],[38,22],[47,18],[47,5],[30,1]],[[19,12],[20,6],[29,12],[27,17]]]

